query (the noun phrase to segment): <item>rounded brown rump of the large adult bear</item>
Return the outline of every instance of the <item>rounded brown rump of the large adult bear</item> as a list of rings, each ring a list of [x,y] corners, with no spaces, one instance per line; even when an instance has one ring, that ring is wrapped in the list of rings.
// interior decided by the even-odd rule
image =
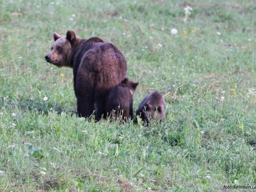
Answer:
[[[107,45],[106,45],[107,44]],[[83,55],[77,77],[83,84],[92,84],[98,91],[109,90],[126,76],[126,61],[119,50],[108,43],[100,43]]]

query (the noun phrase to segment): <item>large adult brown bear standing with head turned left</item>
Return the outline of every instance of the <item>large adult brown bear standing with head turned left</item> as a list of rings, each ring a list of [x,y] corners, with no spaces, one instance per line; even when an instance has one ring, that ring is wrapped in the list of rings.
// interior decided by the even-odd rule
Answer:
[[[95,111],[99,121],[106,115],[106,94],[126,77],[126,60],[121,51],[98,37],[84,39],[72,30],[66,36],[53,34],[52,51],[45,56],[57,67],[72,67],[79,117],[90,117]]]

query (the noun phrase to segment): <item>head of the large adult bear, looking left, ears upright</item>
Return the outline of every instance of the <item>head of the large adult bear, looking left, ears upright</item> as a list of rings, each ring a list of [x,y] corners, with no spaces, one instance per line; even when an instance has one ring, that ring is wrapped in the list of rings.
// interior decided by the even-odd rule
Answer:
[[[54,33],[53,38],[52,50],[45,56],[45,60],[57,67],[72,67],[70,61],[74,54],[73,47],[77,41],[75,32],[69,30],[66,36]]]

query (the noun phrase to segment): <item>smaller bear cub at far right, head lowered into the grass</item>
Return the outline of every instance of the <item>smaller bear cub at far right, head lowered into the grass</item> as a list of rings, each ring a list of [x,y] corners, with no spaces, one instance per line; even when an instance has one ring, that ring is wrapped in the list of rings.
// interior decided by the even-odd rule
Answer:
[[[148,124],[156,113],[157,120],[164,117],[165,102],[162,94],[157,91],[149,93],[147,97],[140,103],[136,116],[140,116],[143,124]]]

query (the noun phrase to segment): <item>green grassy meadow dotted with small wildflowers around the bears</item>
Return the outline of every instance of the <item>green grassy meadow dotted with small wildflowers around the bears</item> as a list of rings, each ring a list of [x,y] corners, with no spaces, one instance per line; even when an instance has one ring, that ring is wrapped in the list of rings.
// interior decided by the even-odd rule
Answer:
[[[184,7],[193,10],[187,22]],[[256,5],[243,1],[0,1],[0,191],[219,191],[256,183]],[[178,33],[172,35],[171,29]],[[53,32],[98,36],[146,94],[150,126],[76,116]],[[231,191],[231,190],[230,190]]]

